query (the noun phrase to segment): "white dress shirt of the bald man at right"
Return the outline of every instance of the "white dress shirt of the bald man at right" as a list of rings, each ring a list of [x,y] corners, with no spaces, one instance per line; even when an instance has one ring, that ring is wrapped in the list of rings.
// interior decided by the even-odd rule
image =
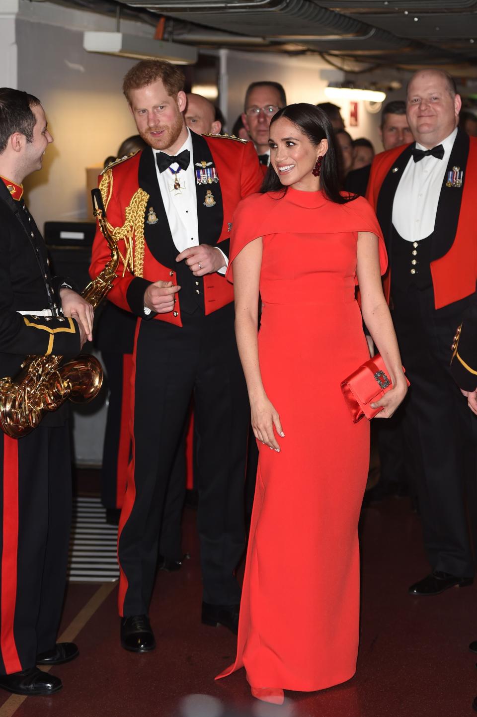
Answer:
[[[415,162],[411,156],[405,166],[392,204],[392,224],[408,242],[419,242],[434,231],[440,189],[456,136],[457,128],[440,142],[444,148],[442,159],[430,155]],[[427,149],[418,142],[415,146]]]

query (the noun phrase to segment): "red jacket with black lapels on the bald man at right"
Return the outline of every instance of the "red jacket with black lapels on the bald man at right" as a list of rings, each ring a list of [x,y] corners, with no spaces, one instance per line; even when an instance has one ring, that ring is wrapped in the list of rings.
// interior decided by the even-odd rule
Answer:
[[[392,223],[392,201],[414,144],[400,146],[375,156],[367,199],[375,207],[386,243]],[[448,173],[463,171],[461,186],[448,186]],[[435,308],[439,309],[475,293],[477,280],[477,139],[458,130],[450,153],[433,232],[430,273]],[[390,253],[390,252],[388,252]],[[390,271],[385,276],[389,298]]]

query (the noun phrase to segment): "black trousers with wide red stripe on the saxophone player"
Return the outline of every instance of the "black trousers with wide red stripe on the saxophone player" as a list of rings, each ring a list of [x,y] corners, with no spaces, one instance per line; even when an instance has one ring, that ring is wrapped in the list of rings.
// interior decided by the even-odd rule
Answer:
[[[69,429],[0,435],[0,673],[54,647],[66,579],[72,481]]]

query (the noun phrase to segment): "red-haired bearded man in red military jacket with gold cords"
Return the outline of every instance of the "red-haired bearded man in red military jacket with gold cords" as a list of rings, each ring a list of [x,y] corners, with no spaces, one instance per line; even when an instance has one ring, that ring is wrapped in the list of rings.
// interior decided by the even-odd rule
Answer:
[[[125,271],[108,298],[138,316],[133,374],[133,458],[119,525],[121,644],[155,647],[148,619],[173,460],[191,397],[198,434],[202,622],[236,632],[244,550],[249,402],[223,276],[238,201],[258,191],[251,143],[201,136],[184,121],[184,76],[143,60],[123,83],[148,148],[105,170],[100,189]],[[109,255],[97,233],[91,275]]]

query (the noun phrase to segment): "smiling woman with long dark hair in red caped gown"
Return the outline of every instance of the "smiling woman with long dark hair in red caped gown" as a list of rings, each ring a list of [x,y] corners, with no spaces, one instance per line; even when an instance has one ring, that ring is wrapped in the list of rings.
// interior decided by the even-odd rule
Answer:
[[[340,384],[369,359],[362,317],[393,386],[380,417],[407,389],[380,227],[365,199],[339,191],[331,133],[313,105],[274,116],[271,166],[238,205],[228,265],[259,470],[237,657],[220,676],[245,667],[252,694],[279,704],[284,689],[322,690],[356,669],[370,427],[353,423]]]

